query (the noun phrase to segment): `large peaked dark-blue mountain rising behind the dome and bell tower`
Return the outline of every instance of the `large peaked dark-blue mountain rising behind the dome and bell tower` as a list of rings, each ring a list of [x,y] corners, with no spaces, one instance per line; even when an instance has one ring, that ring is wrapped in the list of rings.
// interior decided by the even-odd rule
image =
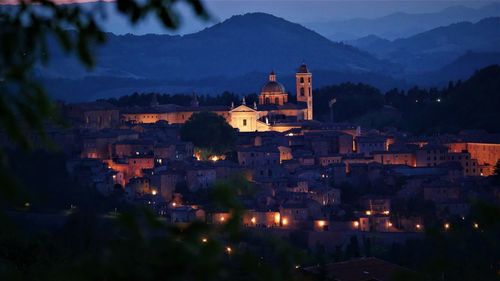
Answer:
[[[89,73],[79,69],[75,60],[56,55],[39,74],[52,78],[107,75],[199,80],[272,69],[291,74],[303,61],[314,71],[389,73],[394,67],[299,24],[263,13],[233,16],[184,36],[108,34],[106,44],[97,49],[96,61],[96,72]]]

